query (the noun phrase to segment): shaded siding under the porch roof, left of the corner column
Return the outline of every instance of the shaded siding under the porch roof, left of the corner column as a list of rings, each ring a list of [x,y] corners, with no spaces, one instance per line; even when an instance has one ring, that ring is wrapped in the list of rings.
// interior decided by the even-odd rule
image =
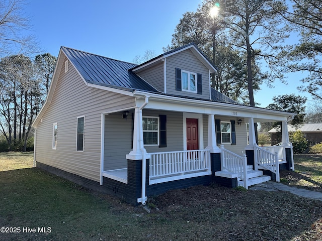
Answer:
[[[132,113],[105,116],[104,171],[127,168],[126,154],[132,150]]]

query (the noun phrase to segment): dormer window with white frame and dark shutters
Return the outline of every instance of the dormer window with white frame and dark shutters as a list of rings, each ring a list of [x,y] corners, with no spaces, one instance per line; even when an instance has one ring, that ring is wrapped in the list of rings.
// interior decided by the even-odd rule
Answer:
[[[176,68],[176,90],[202,94],[202,75]]]

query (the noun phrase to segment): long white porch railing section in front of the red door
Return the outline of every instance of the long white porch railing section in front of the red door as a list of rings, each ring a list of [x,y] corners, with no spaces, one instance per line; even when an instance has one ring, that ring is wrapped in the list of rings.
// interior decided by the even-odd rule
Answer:
[[[209,150],[149,154],[150,184],[211,174]]]

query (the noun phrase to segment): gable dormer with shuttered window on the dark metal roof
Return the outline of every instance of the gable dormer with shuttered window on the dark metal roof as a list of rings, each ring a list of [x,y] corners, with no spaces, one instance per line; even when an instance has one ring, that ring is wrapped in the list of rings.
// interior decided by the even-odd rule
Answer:
[[[157,56],[132,70],[160,92],[211,99],[210,73],[216,68],[194,44]]]

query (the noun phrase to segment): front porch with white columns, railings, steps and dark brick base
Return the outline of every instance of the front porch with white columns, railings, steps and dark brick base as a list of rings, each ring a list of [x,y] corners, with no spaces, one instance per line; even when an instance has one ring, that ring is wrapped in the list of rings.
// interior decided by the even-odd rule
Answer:
[[[288,136],[283,135],[282,145],[278,147],[252,144],[254,122],[261,119],[246,117],[250,115],[247,112],[241,112],[245,117],[240,117],[232,111],[231,116],[226,109],[216,110],[220,113],[216,118],[214,109],[194,110],[200,112],[135,107],[102,114],[101,185],[110,185],[115,194],[121,189],[129,190],[131,197],[126,199],[144,204],[147,196],[170,189],[211,182],[248,188],[255,184],[255,178],[263,182],[269,176],[279,181],[280,165],[287,164],[293,169]],[[262,119],[282,118],[268,117],[263,115]],[[286,124],[284,118],[282,126]],[[220,125],[225,128],[222,132]],[[195,131],[190,132],[189,128]],[[196,137],[193,146],[192,136]],[[220,147],[220,141],[225,147]],[[126,192],[122,193],[124,196]]]

